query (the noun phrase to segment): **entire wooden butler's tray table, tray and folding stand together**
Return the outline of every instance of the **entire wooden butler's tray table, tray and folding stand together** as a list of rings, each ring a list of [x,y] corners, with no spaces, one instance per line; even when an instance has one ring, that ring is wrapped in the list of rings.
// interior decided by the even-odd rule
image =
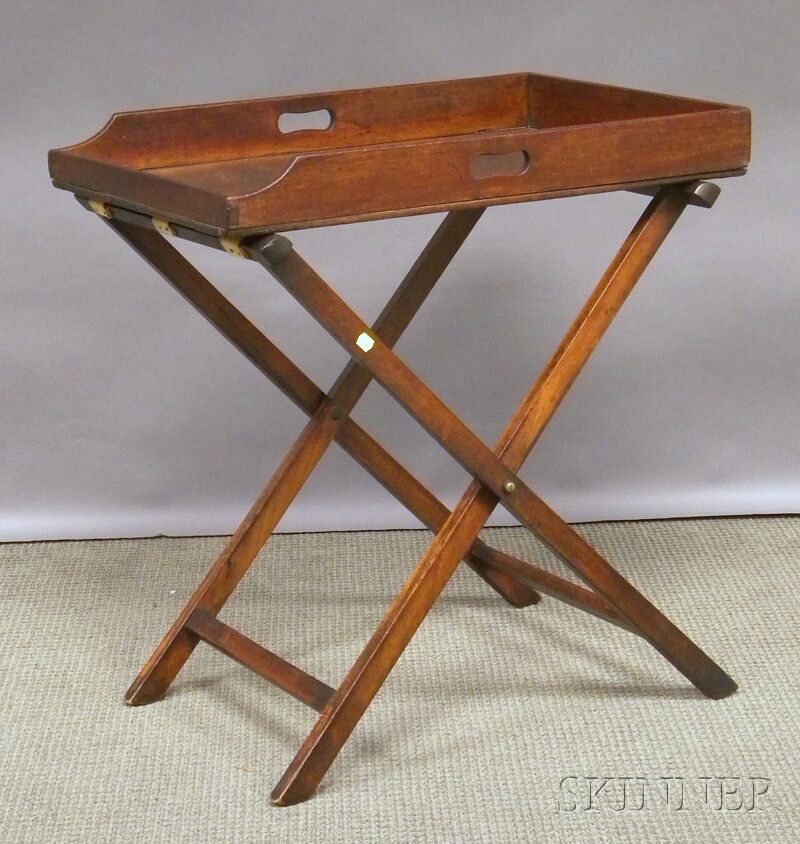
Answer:
[[[328,127],[280,129],[279,118],[312,109]],[[51,151],[56,186],[310,416],[127,702],[159,700],[207,642],[320,713],[272,793],[280,805],[304,800],[461,560],[515,607],[551,595],[642,636],[708,697],[732,694],[734,681],[517,473],[686,206],[713,204],[719,189],[704,179],[740,175],[748,154],[746,109],[535,74],[131,112]],[[486,206],[605,190],[653,198],[491,448],[392,348]],[[448,214],[372,326],[276,233],[436,210]],[[333,387],[317,387],[164,235],[260,263],[350,354]],[[472,476],[452,513],[350,417],[372,379]],[[333,440],[436,534],[337,689],[217,618]],[[498,503],[589,588],[479,540]]]

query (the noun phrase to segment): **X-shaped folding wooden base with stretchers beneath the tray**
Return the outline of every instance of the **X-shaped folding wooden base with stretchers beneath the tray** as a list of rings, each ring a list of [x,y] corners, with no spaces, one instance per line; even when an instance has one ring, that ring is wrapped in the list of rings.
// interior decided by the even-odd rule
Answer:
[[[86,200],[145,260],[311,417],[281,466],[128,691],[129,704],[160,699],[197,643],[208,642],[320,712],[272,793],[309,797],[463,559],[505,600],[524,607],[537,591],[645,638],[701,692],[722,698],[734,681],[517,475],[530,450],[687,204],[709,207],[709,183],[658,190],[494,449],[485,445],[392,351],[483,209],[452,211],[373,326],[368,326],[280,235],[221,241],[190,228]],[[161,234],[206,243],[261,263],[350,353],[325,394],[220,294]],[[351,418],[378,381],[473,476],[450,513]],[[217,614],[333,440],[436,537],[338,689],[223,624]],[[517,560],[477,537],[501,503],[591,589]]]

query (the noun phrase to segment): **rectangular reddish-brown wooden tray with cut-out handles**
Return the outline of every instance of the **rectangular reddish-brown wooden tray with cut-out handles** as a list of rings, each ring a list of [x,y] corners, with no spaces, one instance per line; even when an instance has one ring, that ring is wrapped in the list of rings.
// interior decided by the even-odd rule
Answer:
[[[244,234],[739,175],[749,155],[746,108],[517,73],[122,112],[49,164],[80,196]]]

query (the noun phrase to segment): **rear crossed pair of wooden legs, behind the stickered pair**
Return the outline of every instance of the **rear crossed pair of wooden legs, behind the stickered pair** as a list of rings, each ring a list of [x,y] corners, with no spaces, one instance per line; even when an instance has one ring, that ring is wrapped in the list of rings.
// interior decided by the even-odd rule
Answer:
[[[408,326],[481,213],[482,209],[455,212],[448,215],[436,231],[373,327],[387,347],[393,345]],[[344,440],[346,447],[349,445],[349,450],[361,462],[366,458],[370,468],[373,462],[379,464],[378,479],[384,485],[394,489],[403,484],[405,503],[418,512],[428,526],[438,529],[449,513],[349,420],[347,414],[372,379],[369,370],[351,362],[330,393],[322,394],[179,252],[154,231],[125,222],[122,219],[125,216],[117,210],[114,218],[107,222],[311,414],[311,420],[278,471],[129,689],[127,702],[138,705],[164,695],[201,638],[192,619],[204,618],[203,613],[215,616],[222,609],[337,433],[340,441]],[[127,216],[136,218],[136,215]],[[484,546],[479,545],[478,550],[483,551]],[[512,605],[525,607],[539,600],[530,585],[491,568],[477,554],[468,554],[467,562]]]

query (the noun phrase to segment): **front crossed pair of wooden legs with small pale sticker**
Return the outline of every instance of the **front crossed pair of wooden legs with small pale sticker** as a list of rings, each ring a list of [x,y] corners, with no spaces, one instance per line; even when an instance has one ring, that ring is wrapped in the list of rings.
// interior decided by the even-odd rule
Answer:
[[[329,701],[276,786],[276,803],[303,800],[316,789],[500,498],[701,691],[711,697],[724,697],[736,689],[719,666],[564,525],[515,474],[687,201],[680,190],[665,189],[651,202],[494,453],[396,355],[384,349],[379,338],[372,337],[364,323],[310,267],[285,249],[281,250],[279,261],[271,260],[271,242],[263,244],[260,254],[270,272],[480,479],[470,485]],[[365,335],[368,342],[359,343]]]

